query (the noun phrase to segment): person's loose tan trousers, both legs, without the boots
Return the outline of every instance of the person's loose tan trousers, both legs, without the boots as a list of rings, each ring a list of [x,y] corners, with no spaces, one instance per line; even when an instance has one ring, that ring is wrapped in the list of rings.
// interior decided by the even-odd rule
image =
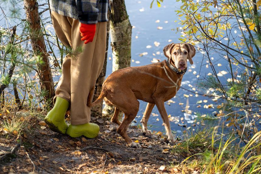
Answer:
[[[87,106],[87,98],[104,63],[106,22],[98,22],[93,41],[84,44],[84,41],[81,41],[79,20],[53,11],[51,16],[60,41],[73,50],[83,49],[79,54],[64,57],[62,76],[55,91],[55,98],[59,96],[70,102],[71,124],[88,123],[91,120],[91,109]]]

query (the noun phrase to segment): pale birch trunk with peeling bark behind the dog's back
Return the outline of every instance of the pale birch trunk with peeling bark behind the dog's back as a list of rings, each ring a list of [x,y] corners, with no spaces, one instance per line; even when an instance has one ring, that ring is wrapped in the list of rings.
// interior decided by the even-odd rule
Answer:
[[[110,23],[112,46],[112,71],[129,67],[131,64],[131,33],[132,26],[126,11],[124,0],[112,2]],[[110,116],[114,112],[112,106],[105,105],[103,114]]]

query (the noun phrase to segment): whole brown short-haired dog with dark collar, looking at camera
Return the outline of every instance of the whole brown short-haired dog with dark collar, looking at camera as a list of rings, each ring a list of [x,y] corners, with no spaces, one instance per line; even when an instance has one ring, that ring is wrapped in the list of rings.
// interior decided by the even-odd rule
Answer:
[[[163,119],[168,141],[174,142],[164,102],[176,95],[187,70],[187,60],[193,64],[192,57],[196,50],[189,44],[171,43],[164,47],[163,52],[167,60],[114,71],[104,81],[102,92],[97,100],[91,103],[94,88],[88,96],[87,105],[89,107],[97,106],[103,98],[108,105],[115,106],[111,121],[119,125],[118,134],[132,147],[141,148],[139,143],[133,142],[127,135],[127,128],[139,111],[137,99],[148,102],[141,120],[143,134],[147,136],[151,134],[151,131],[147,129],[147,121],[156,104]],[[122,122],[118,120],[120,110],[125,114]]]

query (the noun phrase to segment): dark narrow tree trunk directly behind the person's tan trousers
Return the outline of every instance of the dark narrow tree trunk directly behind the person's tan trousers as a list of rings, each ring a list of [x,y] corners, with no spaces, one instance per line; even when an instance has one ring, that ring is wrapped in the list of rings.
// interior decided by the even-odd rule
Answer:
[[[112,6],[112,1],[110,1],[110,6]],[[106,74],[108,45],[109,45],[110,18],[111,18],[110,9],[108,10],[107,16],[108,16],[108,22],[107,22],[107,38],[106,38],[105,59],[104,59],[104,64],[103,64],[103,67],[102,67],[102,70],[101,70],[101,74],[99,75],[99,77],[96,80],[93,101],[95,101],[98,98],[98,96],[101,94],[102,83],[104,82],[105,74]],[[91,115],[92,116],[96,116],[96,115],[101,116],[102,115],[102,102],[98,106],[91,108]]]

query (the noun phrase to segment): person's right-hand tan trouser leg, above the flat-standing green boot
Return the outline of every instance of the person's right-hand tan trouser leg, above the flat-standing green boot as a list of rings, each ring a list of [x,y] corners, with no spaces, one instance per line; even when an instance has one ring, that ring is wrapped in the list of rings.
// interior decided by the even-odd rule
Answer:
[[[84,44],[79,31],[80,23],[72,24],[72,47],[82,48],[82,52],[71,58],[71,120],[72,125],[88,123],[91,120],[91,109],[87,98],[91,88],[101,73],[106,50],[106,22],[96,24],[92,42]]]

